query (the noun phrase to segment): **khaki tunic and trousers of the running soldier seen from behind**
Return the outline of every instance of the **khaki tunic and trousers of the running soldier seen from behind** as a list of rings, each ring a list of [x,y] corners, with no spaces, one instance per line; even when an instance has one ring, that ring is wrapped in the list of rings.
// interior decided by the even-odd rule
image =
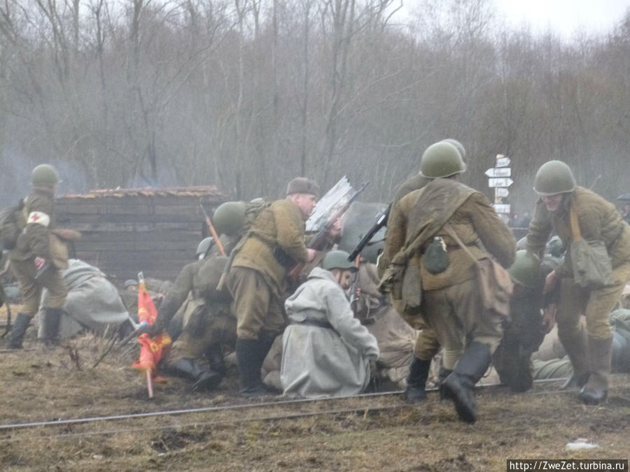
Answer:
[[[434,185],[444,185],[454,190],[461,186],[461,191],[468,189],[450,179],[436,180]],[[412,209],[431,203],[423,200],[422,196],[422,190],[416,190],[400,199],[393,207],[388,221],[388,259],[391,260],[402,248],[407,231],[413,231],[419,224],[407,219]],[[489,253],[504,267],[509,267],[514,262],[514,236],[486,197],[479,192],[472,192],[448,222],[461,241],[469,246],[475,258],[482,259]],[[503,334],[503,317],[484,313],[475,279],[475,262],[444,229],[437,231],[436,236],[442,236],[449,249],[447,269],[438,274],[428,272],[421,254],[414,255],[409,264],[419,265],[423,287],[422,315],[428,326],[435,331],[444,349],[444,367],[454,369],[457,359],[470,341],[485,343],[492,352],[496,349]],[[477,241],[481,241],[486,250],[479,247]]]

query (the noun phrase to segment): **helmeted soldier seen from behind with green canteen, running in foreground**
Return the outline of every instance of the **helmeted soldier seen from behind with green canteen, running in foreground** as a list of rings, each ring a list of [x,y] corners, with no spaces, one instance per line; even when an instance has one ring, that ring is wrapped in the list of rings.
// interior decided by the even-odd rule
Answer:
[[[491,354],[500,342],[503,317],[484,312],[475,279],[475,262],[449,236],[444,224],[449,224],[475,259],[491,254],[505,267],[514,261],[515,242],[487,199],[459,182],[459,174],[465,170],[460,152],[451,143],[435,143],[427,148],[420,171],[431,181],[393,206],[385,255],[393,260],[406,244],[424,235],[423,241],[419,241],[420,250],[411,256],[407,268],[414,264],[419,270],[421,281],[417,289],[423,291],[421,315],[442,345],[444,368],[452,371],[442,384],[444,394],[454,400],[462,420],[475,422],[473,387],[486,372]],[[445,269],[428,264],[423,255],[435,237],[441,238],[442,248],[445,246],[448,260]],[[418,360],[426,382],[430,359]]]

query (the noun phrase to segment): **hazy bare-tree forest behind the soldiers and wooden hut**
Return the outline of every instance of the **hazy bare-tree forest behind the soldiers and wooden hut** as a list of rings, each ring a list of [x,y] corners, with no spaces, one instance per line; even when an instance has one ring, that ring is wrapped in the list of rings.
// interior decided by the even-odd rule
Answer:
[[[308,176],[370,179],[389,201],[423,150],[456,138],[464,182],[512,160],[531,210],[536,169],[572,166],[630,192],[630,9],[570,41],[508,29],[489,0],[3,0],[0,203],[50,162],[59,193],[216,185],[282,196]],[[597,179],[598,176],[602,176]]]

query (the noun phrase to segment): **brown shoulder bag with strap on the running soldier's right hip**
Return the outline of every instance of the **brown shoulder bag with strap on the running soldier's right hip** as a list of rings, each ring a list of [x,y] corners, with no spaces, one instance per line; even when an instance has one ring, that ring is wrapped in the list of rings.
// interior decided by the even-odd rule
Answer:
[[[475,262],[475,271],[477,273],[477,284],[479,295],[486,312],[493,311],[498,315],[510,317],[510,298],[512,297],[512,289],[514,284],[510,273],[507,272],[491,257],[477,259],[461,239],[455,233],[450,224],[444,224],[444,229],[449,236],[470,256]]]

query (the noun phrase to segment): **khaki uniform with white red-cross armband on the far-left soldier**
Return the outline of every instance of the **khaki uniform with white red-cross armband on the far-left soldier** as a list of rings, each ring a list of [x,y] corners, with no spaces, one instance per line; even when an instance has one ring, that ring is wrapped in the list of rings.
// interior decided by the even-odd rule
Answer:
[[[55,228],[53,197],[34,190],[25,200],[24,212],[27,225],[18,237],[15,248],[10,250],[9,258],[11,271],[18,280],[22,295],[22,313],[34,316],[39,309],[42,287],[46,287],[50,293],[43,308],[62,308],[68,288],[55,267],[35,279],[35,257],[43,257],[46,262],[52,262],[48,231]]]

